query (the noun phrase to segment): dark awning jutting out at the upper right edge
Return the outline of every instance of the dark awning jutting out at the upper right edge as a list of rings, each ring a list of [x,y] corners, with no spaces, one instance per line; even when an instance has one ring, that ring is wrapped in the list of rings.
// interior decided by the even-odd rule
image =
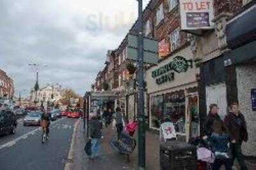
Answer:
[[[256,4],[230,20],[226,32],[229,48],[256,39]]]

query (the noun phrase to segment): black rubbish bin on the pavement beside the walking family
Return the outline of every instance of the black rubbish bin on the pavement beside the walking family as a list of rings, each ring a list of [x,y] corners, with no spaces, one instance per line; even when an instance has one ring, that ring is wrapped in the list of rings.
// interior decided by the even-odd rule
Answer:
[[[160,143],[161,170],[196,170],[196,147],[181,141]]]

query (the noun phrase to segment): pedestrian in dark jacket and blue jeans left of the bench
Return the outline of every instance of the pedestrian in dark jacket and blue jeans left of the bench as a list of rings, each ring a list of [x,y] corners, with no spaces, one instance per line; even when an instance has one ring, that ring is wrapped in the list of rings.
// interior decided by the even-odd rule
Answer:
[[[95,159],[100,155],[100,143],[99,139],[102,136],[102,123],[97,117],[97,113],[92,115],[92,120],[90,122],[90,138],[92,139],[92,154],[90,159]]]

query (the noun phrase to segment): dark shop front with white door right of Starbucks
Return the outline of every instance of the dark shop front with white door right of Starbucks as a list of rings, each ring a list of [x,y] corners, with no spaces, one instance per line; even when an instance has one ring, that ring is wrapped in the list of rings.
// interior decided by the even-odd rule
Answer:
[[[239,13],[227,23],[228,52],[200,67],[200,122],[216,103],[221,118],[228,105],[238,102],[248,129],[243,154],[256,157],[256,4]]]

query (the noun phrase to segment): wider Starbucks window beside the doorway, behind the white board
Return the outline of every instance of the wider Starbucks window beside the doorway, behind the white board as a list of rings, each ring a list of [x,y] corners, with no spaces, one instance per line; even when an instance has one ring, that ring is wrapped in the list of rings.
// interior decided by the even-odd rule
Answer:
[[[184,134],[185,131],[185,112],[186,99],[184,90],[164,94],[164,111],[163,117],[169,118],[175,125],[176,132]]]

